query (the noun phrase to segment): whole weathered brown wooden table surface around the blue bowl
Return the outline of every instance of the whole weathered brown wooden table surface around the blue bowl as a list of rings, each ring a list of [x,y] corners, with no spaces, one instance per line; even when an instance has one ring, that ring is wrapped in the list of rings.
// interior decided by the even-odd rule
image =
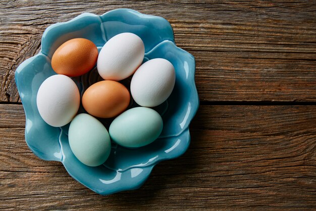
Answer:
[[[316,210],[313,1],[1,1],[0,209]],[[116,8],[162,16],[196,59],[191,145],[138,190],[100,196],[24,141],[14,82],[44,29]]]

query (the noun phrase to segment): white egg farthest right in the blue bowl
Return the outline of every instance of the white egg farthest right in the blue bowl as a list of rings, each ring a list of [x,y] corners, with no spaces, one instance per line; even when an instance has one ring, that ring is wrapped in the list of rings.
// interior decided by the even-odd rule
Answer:
[[[142,64],[131,80],[131,94],[138,105],[154,107],[170,96],[175,86],[175,68],[166,59],[151,59]]]

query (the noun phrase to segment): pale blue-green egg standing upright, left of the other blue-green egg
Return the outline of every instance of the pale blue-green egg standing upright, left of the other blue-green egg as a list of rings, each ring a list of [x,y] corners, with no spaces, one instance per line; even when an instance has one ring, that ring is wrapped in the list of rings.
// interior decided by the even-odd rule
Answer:
[[[101,165],[110,155],[109,132],[99,120],[89,114],[78,114],[71,121],[68,139],[71,151],[86,165]]]

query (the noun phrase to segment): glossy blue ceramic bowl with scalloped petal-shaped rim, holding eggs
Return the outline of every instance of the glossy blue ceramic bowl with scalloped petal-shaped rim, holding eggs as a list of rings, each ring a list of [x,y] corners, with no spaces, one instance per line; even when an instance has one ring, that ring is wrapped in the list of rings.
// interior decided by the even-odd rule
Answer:
[[[70,150],[69,125],[54,128],[42,120],[36,107],[37,91],[47,77],[56,74],[50,59],[65,41],[87,38],[100,50],[107,40],[123,32],[132,32],[142,38],[144,62],[165,58],[174,65],[175,88],[169,99],[155,108],[164,120],[164,130],[157,140],[137,149],[113,145],[111,155],[103,165],[89,167]],[[96,193],[107,195],[139,188],[155,164],[186,151],[190,143],[189,123],[199,104],[194,83],[195,62],[191,54],[175,45],[172,27],[166,19],[129,9],[113,10],[101,16],[84,13],[68,22],[49,26],[43,33],[41,44],[39,54],[24,61],[15,74],[26,115],[25,140],[39,158],[61,161],[74,179]],[[88,75],[73,79],[82,93],[97,78],[97,72],[90,71]]]

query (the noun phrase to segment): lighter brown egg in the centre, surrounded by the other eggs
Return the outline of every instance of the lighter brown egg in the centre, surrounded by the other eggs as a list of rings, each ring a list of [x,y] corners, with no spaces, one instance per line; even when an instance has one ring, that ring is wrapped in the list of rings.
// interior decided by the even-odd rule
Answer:
[[[82,96],[82,105],[91,115],[111,118],[122,113],[130,102],[126,87],[114,80],[102,80],[90,86]]]

